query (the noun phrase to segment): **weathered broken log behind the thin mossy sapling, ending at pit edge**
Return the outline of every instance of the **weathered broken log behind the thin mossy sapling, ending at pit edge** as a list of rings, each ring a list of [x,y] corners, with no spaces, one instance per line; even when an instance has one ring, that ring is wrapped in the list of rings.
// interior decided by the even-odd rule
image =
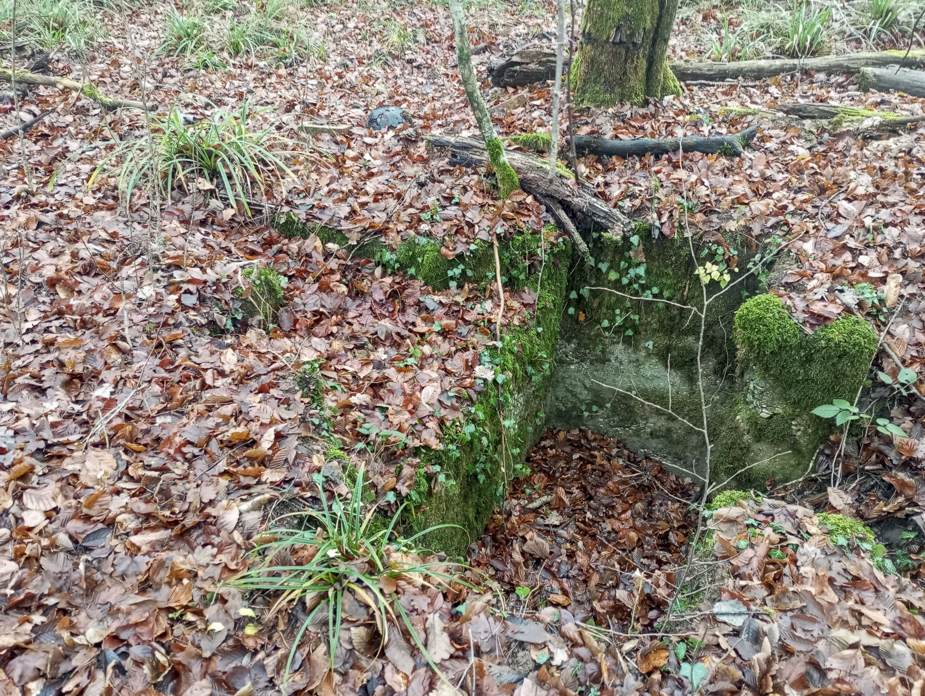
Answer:
[[[503,140],[503,139],[502,139]],[[473,138],[434,136],[428,139],[428,149],[450,153],[451,165],[486,166],[488,152],[485,143]],[[579,219],[585,225],[594,225],[617,236],[629,233],[632,222],[620,211],[601,201],[594,189],[583,184],[576,187],[571,177],[556,172],[549,177],[549,165],[529,153],[506,150],[508,162],[520,177],[521,188],[537,200],[556,201],[565,214]]]

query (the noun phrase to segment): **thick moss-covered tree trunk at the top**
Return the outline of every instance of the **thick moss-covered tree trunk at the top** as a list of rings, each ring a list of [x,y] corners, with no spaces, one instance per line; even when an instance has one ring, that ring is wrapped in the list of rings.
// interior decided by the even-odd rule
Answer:
[[[572,67],[575,104],[680,93],[666,54],[678,0],[588,0]]]

